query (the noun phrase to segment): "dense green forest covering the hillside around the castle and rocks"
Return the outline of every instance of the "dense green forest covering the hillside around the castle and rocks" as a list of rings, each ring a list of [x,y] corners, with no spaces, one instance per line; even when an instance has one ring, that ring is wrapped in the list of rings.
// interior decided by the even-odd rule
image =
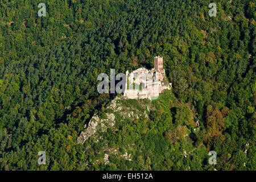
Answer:
[[[41,2],[0,1],[1,170],[256,170],[254,0],[216,1],[216,17],[205,0],[52,0],[39,17]],[[151,68],[156,55],[173,88],[149,118],[77,143],[115,98],[97,92],[98,74]],[[133,160],[98,162],[102,146],[134,142]]]

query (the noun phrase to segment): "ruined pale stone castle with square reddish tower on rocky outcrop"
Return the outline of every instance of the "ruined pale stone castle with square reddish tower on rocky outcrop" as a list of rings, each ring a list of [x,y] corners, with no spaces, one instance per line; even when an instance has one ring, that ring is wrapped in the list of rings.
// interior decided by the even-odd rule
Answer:
[[[164,84],[165,70],[163,57],[154,57],[154,68],[139,68],[129,73],[126,71],[126,85],[123,97],[131,99],[148,98],[154,100],[164,89],[171,89],[171,84]]]

